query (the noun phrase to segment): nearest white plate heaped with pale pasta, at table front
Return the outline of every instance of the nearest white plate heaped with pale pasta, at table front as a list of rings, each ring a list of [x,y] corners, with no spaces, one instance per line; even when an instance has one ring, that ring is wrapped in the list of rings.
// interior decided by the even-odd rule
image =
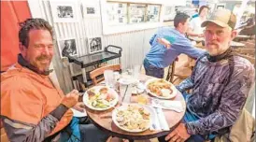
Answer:
[[[149,107],[129,104],[115,108],[112,112],[112,120],[121,130],[139,133],[149,129],[151,115]]]

